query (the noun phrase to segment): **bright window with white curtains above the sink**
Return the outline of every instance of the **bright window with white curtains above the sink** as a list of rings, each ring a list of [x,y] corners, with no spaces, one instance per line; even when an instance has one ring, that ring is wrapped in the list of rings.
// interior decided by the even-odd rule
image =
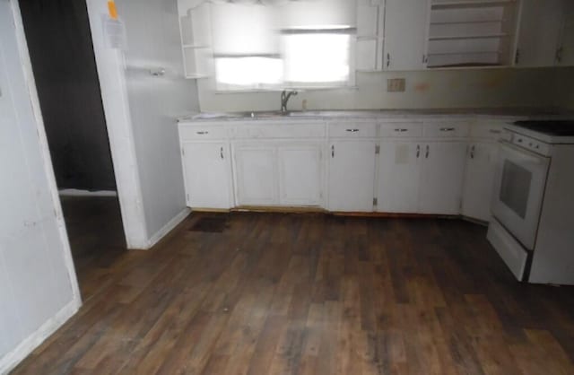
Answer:
[[[216,90],[354,83],[354,1],[239,1],[212,8]]]

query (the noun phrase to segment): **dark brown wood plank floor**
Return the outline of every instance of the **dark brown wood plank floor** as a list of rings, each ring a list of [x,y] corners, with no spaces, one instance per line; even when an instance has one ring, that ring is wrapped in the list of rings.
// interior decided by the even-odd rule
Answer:
[[[574,289],[517,283],[485,234],[193,214],[151,251],[86,262],[83,308],[13,372],[574,374]]]

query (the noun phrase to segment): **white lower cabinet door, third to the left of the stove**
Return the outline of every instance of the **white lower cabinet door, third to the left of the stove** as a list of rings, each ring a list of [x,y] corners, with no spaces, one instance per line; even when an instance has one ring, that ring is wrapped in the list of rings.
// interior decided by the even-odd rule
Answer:
[[[421,143],[381,142],[378,156],[377,211],[418,212],[421,156]]]

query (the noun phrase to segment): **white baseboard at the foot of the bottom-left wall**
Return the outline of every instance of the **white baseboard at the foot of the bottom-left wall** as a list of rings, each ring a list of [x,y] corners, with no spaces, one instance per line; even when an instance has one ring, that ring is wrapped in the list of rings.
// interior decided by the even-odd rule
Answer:
[[[14,0],[15,1],[15,0]],[[62,310],[49,318],[42,326],[40,326],[34,333],[26,337],[18,346],[11,352],[0,358],[0,374],[8,373],[13,370],[18,363],[26,358],[39,344],[42,344],[49,336],[57,331],[62,325],[80,309],[82,301],[79,298],[69,301]]]

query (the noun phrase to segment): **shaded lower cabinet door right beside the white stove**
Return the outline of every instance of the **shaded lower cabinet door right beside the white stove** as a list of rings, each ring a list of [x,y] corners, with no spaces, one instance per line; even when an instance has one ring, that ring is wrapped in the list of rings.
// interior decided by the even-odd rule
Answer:
[[[498,144],[470,144],[466,158],[462,214],[490,222],[491,196]]]

